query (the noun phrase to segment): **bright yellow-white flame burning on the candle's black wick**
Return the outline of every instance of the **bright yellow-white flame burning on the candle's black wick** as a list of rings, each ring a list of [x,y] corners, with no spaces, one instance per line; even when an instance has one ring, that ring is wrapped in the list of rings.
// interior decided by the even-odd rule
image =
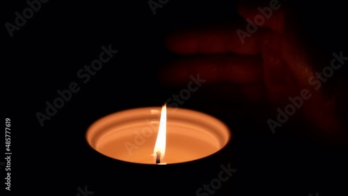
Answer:
[[[159,120],[159,129],[157,134],[157,140],[155,144],[155,149],[153,154],[155,159],[159,156],[159,160],[163,160],[164,154],[166,153],[166,124],[167,124],[167,108],[166,104],[162,106],[161,109],[161,118]]]

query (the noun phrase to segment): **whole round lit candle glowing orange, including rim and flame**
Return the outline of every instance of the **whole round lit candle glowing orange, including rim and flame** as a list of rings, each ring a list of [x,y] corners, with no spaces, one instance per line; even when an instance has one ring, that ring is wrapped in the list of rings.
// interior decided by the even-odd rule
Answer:
[[[230,130],[211,115],[164,105],[106,115],[90,125],[86,140],[119,161],[173,164],[219,152],[228,144]]]

